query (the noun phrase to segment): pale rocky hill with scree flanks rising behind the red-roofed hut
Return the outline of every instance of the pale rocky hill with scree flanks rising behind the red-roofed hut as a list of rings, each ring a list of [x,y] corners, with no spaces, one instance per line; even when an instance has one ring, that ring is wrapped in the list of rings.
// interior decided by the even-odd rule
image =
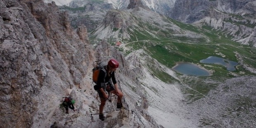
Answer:
[[[102,23],[90,35],[98,39],[111,39],[112,41],[130,40],[136,34],[159,36],[185,36],[187,38],[205,38],[192,31],[184,30],[173,23],[171,19],[151,10],[139,7],[139,10],[110,9]]]

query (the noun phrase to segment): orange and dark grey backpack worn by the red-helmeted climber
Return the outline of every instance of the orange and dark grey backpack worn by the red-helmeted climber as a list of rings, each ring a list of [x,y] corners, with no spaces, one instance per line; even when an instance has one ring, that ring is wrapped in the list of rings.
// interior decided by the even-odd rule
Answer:
[[[92,69],[92,81],[97,84],[98,77],[100,74],[100,70],[105,72],[105,77],[107,76],[107,71],[105,67],[107,66],[107,62],[100,62],[94,65]],[[97,85],[94,85],[94,90],[98,90]]]

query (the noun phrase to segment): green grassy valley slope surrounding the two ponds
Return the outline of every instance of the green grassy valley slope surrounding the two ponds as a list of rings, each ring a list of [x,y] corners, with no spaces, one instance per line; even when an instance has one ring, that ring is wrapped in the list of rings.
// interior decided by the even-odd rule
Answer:
[[[242,18],[238,15],[233,17]],[[191,62],[199,64],[205,69],[212,71],[211,76],[196,77],[186,76],[182,83],[184,84],[183,92],[187,94],[187,101],[193,102],[204,95],[207,95],[209,90],[214,89],[219,83],[207,83],[207,81],[223,82],[228,78],[232,78],[239,75],[255,75],[243,68],[243,66],[236,66],[237,70],[228,71],[226,67],[218,64],[203,64],[201,59],[206,59],[209,56],[221,57],[234,62],[242,62],[248,66],[256,67],[256,48],[249,47],[247,45],[241,45],[235,41],[232,41],[232,35],[225,36],[223,31],[218,31],[211,26],[202,26],[198,28],[190,24],[183,24],[179,21],[166,18],[164,21],[170,23],[166,25],[168,27],[162,28],[159,23],[145,22],[141,18],[136,19],[138,26],[129,26],[127,33],[129,33],[130,39],[123,39],[122,42],[127,49],[117,47],[120,51],[125,52],[128,55],[134,50],[143,49],[152,58],[156,59],[161,64],[172,68],[177,62]],[[229,20],[229,19],[227,19]],[[231,19],[230,19],[231,20]],[[231,22],[231,21],[229,21]],[[235,23],[235,22],[232,22]],[[243,24],[244,23],[235,23]],[[162,24],[161,24],[162,25]],[[172,26],[180,27],[172,29]],[[175,28],[175,27],[173,27]],[[115,29],[113,29],[114,31]],[[176,31],[178,30],[178,31]],[[187,33],[193,33],[197,36],[187,36]],[[237,35],[240,31],[237,31]],[[108,40],[111,45],[114,39]],[[239,57],[238,57],[239,56]],[[151,61],[149,61],[151,62]],[[153,64],[154,65],[154,64]],[[152,76],[159,78],[166,83],[180,83],[172,76],[159,68],[148,64],[148,69],[152,72]],[[234,75],[235,74],[235,75]],[[185,77],[183,74],[177,73],[178,77]],[[189,86],[186,87],[185,85]]]

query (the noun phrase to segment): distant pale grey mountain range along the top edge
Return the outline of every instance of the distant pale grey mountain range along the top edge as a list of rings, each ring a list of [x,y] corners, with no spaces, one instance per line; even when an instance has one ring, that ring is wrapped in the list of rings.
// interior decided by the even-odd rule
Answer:
[[[45,0],[45,2],[49,1],[51,0]],[[106,7],[109,9],[127,9],[129,2],[133,0],[54,1],[57,5],[67,5],[72,8],[88,8],[88,5],[96,7],[103,4],[102,9]],[[256,47],[256,20],[254,18],[256,17],[256,0],[139,0],[137,2],[141,2],[154,12],[184,23],[199,27],[211,26],[217,31],[222,31],[227,37],[231,36],[234,41]],[[98,11],[97,9],[94,10]],[[104,12],[107,11],[104,10]],[[78,23],[72,22],[73,26],[75,24],[88,24],[81,23],[79,20],[75,22]],[[88,28],[90,29],[90,27]]]

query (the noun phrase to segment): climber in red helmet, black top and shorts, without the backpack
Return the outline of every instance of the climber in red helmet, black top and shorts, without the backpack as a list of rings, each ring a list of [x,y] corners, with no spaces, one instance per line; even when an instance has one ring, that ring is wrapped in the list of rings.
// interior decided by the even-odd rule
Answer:
[[[121,109],[123,107],[121,100],[123,97],[123,93],[119,90],[118,85],[116,83],[115,71],[119,67],[119,63],[115,59],[110,59],[107,66],[105,67],[106,73],[103,70],[100,70],[100,74],[97,81],[98,93],[100,96],[100,114],[99,118],[104,121],[105,116],[103,115],[103,109],[108,99],[108,95],[106,93],[110,92],[118,96],[116,108]],[[111,80],[114,84],[111,83]]]

